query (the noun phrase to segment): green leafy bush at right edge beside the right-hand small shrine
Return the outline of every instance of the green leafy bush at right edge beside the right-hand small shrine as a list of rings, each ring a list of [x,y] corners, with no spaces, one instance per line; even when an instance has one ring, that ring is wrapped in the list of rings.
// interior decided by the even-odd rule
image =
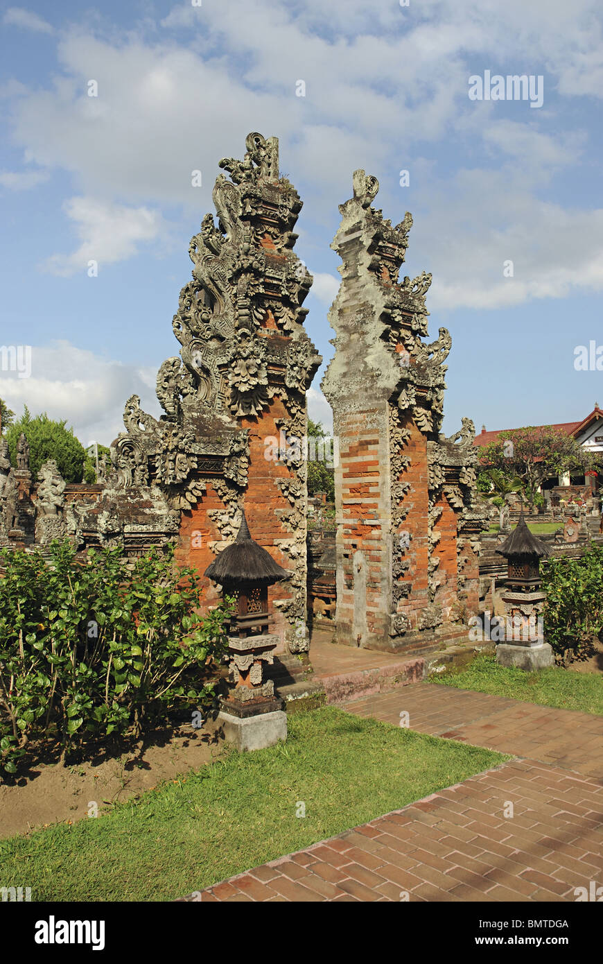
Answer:
[[[590,543],[577,558],[552,557],[542,565],[543,620],[555,653],[579,653],[603,629],[603,547]]]

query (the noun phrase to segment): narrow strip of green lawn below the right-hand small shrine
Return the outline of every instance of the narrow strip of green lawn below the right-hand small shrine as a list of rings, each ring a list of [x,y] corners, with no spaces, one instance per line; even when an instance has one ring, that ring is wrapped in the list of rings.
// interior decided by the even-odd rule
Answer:
[[[552,666],[539,673],[499,666],[494,656],[476,656],[459,673],[430,677],[430,683],[527,700],[543,707],[603,714],[603,677]]]

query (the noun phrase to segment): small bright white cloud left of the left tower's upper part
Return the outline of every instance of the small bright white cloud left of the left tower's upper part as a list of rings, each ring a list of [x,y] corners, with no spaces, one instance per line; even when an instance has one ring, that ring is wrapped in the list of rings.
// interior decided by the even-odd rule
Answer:
[[[43,269],[53,275],[84,271],[91,260],[97,262],[99,270],[104,264],[121,261],[136,254],[139,243],[156,238],[162,228],[161,216],[146,207],[71,198],[65,209],[81,244],[72,254],[52,254],[43,262]]]

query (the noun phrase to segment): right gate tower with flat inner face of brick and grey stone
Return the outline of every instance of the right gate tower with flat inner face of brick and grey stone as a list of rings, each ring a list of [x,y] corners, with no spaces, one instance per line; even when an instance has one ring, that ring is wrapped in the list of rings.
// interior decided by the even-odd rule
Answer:
[[[339,441],[337,641],[420,650],[464,634],[478,609],[475,431],[463,418],[440,434],[451,337],[422,340],[432,276],[398,281],[412,218],[392,228],[371,206],[378,190],[354,173],[331,245],[343,261],[322,386]]]

